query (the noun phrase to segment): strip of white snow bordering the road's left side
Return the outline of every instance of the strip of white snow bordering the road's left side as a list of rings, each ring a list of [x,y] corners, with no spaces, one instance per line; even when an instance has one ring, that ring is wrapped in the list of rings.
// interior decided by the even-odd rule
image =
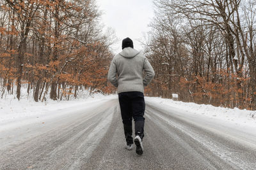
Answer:
[[[41,117],[54,112],[65,110],[65,108],[76,108],[76,106],[90,106],[90,103],[115,98],[116,96],[104,96],[102,94],[93,94],[84,96],[83,99],[74,99],[71,101],[47,101],[35,102],[32,97],[13,99],[13,96],[6,96],[0,99],[0,125],[11,122],[20,122],[24,119]]]

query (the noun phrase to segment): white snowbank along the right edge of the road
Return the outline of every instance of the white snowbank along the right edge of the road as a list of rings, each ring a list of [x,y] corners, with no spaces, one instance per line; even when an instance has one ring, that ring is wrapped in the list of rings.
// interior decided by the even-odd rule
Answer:
[[[184,103],[182,101],[173,101],[172,99],[163,99],[161,97],[146,97],[147,103],[159,104],[163,108],[175,108],[184,110],[186,113],[209,117],[216,120],[224,120],[237,125],[246,125],[256,127],[256,111],[239,110],[238,108],[221,108],[210,104]]]

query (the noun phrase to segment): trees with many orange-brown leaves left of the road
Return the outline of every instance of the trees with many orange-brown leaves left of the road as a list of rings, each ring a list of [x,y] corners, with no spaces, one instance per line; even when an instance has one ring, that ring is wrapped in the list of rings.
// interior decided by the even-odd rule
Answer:
[[[35,101],[108,92],[111,34],[102,34],[95,1],[1,0],[1,97],[33,89]],[[15,89],[13,89],[15,87]],[[13,92],[14,91],[14,92]]]

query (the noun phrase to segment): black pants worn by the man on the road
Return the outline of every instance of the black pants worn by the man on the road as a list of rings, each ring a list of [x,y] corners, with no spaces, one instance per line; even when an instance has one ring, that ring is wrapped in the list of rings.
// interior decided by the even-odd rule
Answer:
[[[118,99],[124,124],[125,139],[127,144],[132,144],[132,118],[135,122],[135,134],[139,134],[141,139],[144,136],[144,94],[142,92],[122,92],[118,94]]]

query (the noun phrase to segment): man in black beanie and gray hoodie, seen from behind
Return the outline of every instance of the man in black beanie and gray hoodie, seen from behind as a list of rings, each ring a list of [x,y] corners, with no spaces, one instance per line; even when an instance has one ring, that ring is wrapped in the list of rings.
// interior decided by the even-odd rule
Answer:
[[[143,78],[143,71],[145,77]],[[116,78],[116,73],[118,78]],[[122,52],[112,60],[108,71],[108,80],[117,87],[118,99],[124,124],[127,150],[132,150],[132,118],[134,119],[136,153],[143,154],[144,136],[143,117],[145,112],[144,87],[154,78],[154,69],[143,53],[134,50],[130,38],[122,41]]]

